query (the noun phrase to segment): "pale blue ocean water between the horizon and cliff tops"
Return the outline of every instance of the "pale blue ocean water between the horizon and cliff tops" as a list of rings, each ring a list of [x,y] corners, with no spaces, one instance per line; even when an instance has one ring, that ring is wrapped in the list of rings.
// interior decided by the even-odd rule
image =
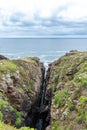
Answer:
[[[10,58],[39,57],[52,62],[70,50],[87,50],[87,39],[77,38],[0,38],[0,54]]]

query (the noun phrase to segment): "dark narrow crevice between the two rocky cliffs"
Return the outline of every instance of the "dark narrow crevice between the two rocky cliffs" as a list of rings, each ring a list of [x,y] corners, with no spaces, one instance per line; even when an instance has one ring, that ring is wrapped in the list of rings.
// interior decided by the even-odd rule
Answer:
[[[25,126],[45,130],[50,123],[51,91],[46,90],[49,74],[49,69],[44,67],[40,94],[26,116]]]

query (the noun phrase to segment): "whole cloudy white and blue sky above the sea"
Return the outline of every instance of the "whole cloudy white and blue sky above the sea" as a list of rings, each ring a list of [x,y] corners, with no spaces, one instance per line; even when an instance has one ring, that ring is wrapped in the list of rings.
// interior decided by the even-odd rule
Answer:
[[[87,36],[87,0],[0,0],[0,37]]]

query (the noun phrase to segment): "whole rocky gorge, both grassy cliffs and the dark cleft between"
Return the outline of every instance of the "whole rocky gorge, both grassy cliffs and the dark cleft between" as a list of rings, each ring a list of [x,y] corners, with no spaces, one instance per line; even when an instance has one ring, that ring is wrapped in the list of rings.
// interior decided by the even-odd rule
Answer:
[[[87,52],[70,51],[47,72],[37,57],[0,56],[0,120],[22,130],[86,130]]]

